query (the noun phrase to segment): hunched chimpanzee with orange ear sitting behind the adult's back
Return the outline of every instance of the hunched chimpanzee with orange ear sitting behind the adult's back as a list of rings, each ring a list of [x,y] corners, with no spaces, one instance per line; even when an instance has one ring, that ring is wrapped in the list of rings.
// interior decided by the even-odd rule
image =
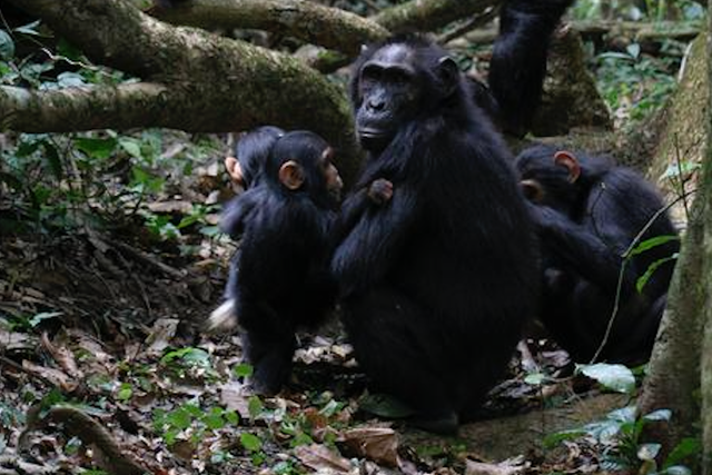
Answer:
[[[541,236],[545,326],[576,362],[594,356],[627,364],[646,359],[665,306],[671,257],[679,249],[659,194],[634,171],[605,158],[550,146],[524,150],[516,166]],[[642,241],[673,239],[635,254],[623,266],[623,254],[641,232]],[[637,291],[636,280],[649,269],[654,273]],[[596,355],[614,315],[619,280],[620,305]]]

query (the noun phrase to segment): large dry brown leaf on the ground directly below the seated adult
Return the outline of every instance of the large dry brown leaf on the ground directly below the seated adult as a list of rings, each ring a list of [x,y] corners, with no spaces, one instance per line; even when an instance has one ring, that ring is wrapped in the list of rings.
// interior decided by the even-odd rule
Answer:
[[[346,431],[339,442],[359,457],[388,467],[398,466],[398,434],[389,427],[359,427]]]

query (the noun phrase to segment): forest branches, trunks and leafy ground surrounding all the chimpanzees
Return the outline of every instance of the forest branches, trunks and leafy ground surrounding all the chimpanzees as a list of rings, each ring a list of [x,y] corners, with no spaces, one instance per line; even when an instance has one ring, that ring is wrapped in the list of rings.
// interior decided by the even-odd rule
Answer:
[[[1,0],[0,474],[712,473],[700,2],[578,0],[532,133],[507,138],[611,154],[664,190],[686,236],[650,366],[571,374],[533,329],[483,422],[447,438],[365,390],[336,323],[303,335],[274,398],[244,392],[236,335],[204,331],[235,251],[217,226],[233,132],[313,129],[353,182],[345,86],[360,46],[429,32],[483,79],[496,13],[493,0]]]

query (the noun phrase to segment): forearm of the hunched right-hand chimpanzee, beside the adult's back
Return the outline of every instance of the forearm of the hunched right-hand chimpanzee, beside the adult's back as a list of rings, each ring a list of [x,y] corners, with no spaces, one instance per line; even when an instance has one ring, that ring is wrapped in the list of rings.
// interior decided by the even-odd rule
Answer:
[[[531,206],[538,226],[545,254],[553,256],[565,269],[571,269],[605,291],[615,291],[623,265],[625,237],[611,222],[591,229],[545,206]],[[606,229],[603,229],[605,227]],[[604,236],[610,238],[605,241]],[[622,291],[635,288],[635,269],[626,265]]]

